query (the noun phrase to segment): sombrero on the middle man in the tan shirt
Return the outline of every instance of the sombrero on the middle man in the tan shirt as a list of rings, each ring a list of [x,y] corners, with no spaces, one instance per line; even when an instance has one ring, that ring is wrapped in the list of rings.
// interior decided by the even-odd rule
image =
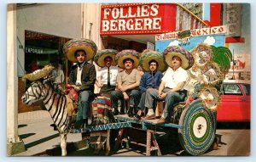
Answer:
[[[139,53],[133,49],[125,49],[117,53],[115,56],[115,61],[121,69],[125,68],[125,65],[123,64],[125,59],[132,59],[134,61],[133,68],[137,68],[139,64]]]

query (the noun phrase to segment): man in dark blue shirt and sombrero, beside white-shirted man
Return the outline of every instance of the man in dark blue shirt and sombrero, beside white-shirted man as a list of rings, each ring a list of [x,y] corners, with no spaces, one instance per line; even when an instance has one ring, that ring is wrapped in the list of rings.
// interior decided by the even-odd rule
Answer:
[[[139,86],[139,90],[142,92],[142,96],[138,105],[139,110],[137,111],[136,115],[137,120],[140,120],[143,116],[146,93],[152,90],[158,91],[160,81],[163,77],[161,71],[166,70],[166,63],[162,53],[149,49],[144,50],[141,54],[140,65],[146,72],[143,74]]]

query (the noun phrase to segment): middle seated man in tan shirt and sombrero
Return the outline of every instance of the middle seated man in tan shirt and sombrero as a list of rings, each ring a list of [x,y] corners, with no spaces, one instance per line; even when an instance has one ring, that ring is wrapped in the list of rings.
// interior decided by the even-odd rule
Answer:
[[[121,101],[121,114],[125,113],[125,100],[129,100],[130,109],[128,115],[133,115],[133,109],[137,109],[140,101],[140,92],[137,90],[139,87],[141,75],[136,70],[139,64],[139,53],[135,50],[127,49],[117,53],[115,60],[119,68],[125,69],[117,75],[117,89],[111,93],[111,104],[114,109],[114,115],[119,114],[118,101]]]

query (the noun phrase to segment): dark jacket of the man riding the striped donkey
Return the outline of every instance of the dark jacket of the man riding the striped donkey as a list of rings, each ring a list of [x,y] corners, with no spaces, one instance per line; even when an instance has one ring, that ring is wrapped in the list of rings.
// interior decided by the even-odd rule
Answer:
[[[75,64],[71,67],[71,72],[68,77],[68,84],[75,84],[77,81],[78,65]],[[94,92],[94,84],[96,81],[96,69],[94,64],[89,64],[85,62],[82,76],[82,85],[79,86],[81,91]]]

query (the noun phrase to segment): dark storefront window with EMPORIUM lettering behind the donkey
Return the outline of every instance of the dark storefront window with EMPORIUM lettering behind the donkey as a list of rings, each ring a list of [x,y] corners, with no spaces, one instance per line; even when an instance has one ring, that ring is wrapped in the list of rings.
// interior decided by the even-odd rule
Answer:
[[[25,31],[25,70],[27,73],[41,69],[46,64],[55,67],[66,63],[62,47],[70,38],[53,36],[37,31]],[[63,69],[65,70],[65,69]]]

